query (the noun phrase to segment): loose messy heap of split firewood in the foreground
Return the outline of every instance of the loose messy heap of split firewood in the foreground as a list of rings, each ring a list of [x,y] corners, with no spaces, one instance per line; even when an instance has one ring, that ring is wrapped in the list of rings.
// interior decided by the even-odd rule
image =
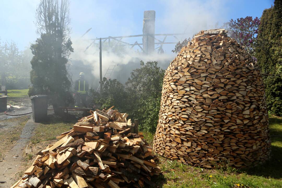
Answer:
[[[127,113],[90,111],[36,157],[12,188],[103,188],[155,186],[159,175],[152,147],[138,134]]]

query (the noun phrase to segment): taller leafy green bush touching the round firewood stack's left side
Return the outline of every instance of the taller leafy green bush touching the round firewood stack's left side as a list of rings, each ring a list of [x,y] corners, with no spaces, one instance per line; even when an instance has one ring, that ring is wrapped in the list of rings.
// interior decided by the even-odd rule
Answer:
[[[158,67],[157,61],[146,64],[141,61],[140,65],[141,68],[131,72],[131,78],[126,82],[127,90],[130,93],[129,98],[136,101],[131,107],[135,109],[134,117],[140,121],[140,129],[155,132],[160,111],[164,70]]]

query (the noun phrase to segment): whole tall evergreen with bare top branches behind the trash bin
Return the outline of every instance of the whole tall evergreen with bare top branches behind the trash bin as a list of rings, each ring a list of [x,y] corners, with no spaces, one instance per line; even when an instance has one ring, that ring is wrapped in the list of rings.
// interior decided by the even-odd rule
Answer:
[[[73,48],[70,41],[69,1],[41,0],[36,10],[36,26],[40,38],[31,45],[32,87],[29,95],[47,94],[52,99],[55,113],[58,106],[70,98],[67,90],[70,79],[67,62]],[[66,98],[68,96],[68,98]]]

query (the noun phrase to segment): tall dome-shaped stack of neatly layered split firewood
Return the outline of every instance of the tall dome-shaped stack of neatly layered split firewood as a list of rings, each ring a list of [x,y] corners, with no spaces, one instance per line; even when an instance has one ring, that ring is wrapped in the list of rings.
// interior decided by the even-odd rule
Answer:
[[[270,156],[260,70],[224,29],[201,31],[165,72],[154,151],[179,162],[247,168]]]

